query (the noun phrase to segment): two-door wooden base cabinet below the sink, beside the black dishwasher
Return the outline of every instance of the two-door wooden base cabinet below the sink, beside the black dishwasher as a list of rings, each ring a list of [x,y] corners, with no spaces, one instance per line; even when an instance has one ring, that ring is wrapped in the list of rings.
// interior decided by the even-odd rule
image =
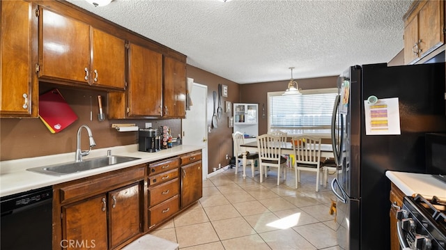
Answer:
[[[145,168],[55,185],[53,249],[118,249],[141,235]]]

